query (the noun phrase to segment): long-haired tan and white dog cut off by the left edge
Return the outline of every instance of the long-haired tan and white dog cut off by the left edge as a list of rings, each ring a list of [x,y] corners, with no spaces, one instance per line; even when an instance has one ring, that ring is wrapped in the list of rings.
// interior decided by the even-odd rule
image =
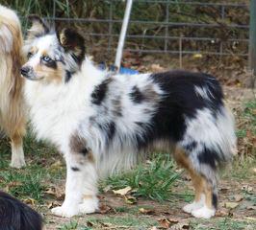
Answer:
[[[0,130],[12,140],[14,168],[25,166],[22,138],[25,134],[23,82],[20,77],[23,38],[15,12],[0,5]]]

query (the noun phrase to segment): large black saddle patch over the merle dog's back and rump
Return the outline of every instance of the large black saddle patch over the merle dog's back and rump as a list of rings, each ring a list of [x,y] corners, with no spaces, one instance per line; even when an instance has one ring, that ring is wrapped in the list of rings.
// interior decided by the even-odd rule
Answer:
[[[139,148],[145,147],[153,140],[169,140],[174,143],[181,141],[187,129],[185,118],[194,118],[198,109],[209,108],[213,115],[221,111],[220,108],[223,105],[222,90],[218,81],[210,75],[170,71],[152,74],[150,78],[161,88],[163,95],[156,94],[151,97],[156,102],[156,108],[149,124],[138,124],[143,130],[142,134],[136,136]],[[194,86],[206,86],[213,97],[210,97],[210,100],[199,98]],[[136,88],[132,96],[136,103],[147,100],[144,93],[138,92]],[[191,150],[195,148],[195,144],[192,143],[187,148]],[[212,155],[213,153],[208,152],[206,154]],[[217,159],[216,154],[214,157]],[[213,167],[216,165],[215,160],[207,160],[206,155],[199,158],[201,162],[207,162]]]

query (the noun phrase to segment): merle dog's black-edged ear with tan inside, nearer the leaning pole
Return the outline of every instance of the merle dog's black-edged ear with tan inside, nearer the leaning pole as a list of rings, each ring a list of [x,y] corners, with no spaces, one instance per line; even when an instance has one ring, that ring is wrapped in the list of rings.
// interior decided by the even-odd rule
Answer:
[[[64,28],[61,32],[57,32],[57,37],[61,46],[66,53],[69,53],[79,64],[85,58],[86,47],[85,39],[73,29]]]

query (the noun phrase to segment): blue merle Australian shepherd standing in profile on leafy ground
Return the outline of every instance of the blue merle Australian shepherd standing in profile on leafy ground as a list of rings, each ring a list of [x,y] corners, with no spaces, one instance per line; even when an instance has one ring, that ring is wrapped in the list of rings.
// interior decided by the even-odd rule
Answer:
[[[85,58],[84,38],[74,30],[51,31],[31,16],[21,68],[25,98],[38,138],[64,154],[62,217],[98,208],[97,179],[131,168],[141,153],[173,149],[192,176],[195,198],[183,210],[209,219],[218,203],[218,166],[236,152],[233,117],[218,81],[207,74],[170,71],[119,75]]]

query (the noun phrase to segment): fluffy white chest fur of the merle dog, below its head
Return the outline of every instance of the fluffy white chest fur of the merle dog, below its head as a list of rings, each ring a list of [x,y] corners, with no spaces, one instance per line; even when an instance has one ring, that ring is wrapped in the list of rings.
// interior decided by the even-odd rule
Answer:
[[[62,149],[68,137],[85,120],[86,93],[82,87],[42,85],[26,81],[25,95],[30,107],[30,119],[39,139],[47,139]]]

